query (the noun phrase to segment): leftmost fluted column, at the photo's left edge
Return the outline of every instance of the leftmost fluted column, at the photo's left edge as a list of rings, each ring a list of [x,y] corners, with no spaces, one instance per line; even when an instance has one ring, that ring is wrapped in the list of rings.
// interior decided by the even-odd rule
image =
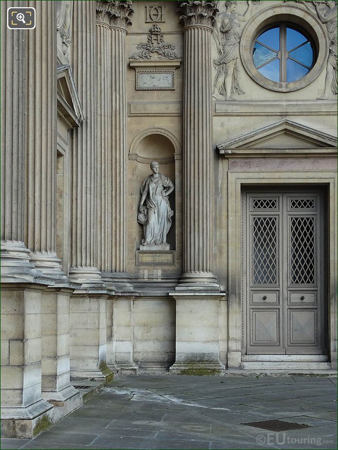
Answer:
[[[20,1],[2,1],[7,8],[24,6]],[[25,64],[24,30],[1,33],[1,276],[5,281],[32,281],[37,272],[24,244],[25,219]]]

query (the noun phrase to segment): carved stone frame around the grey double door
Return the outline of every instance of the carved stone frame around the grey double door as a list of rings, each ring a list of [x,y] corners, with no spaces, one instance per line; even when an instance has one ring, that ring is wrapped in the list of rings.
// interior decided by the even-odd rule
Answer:
[[[242,188],[250,185],[279,185],[279,184],[311,184],[327,185],[328,199],[328,329],[329,352],[332,368],[337,367],[337,173],[322,172],[229,172],[228,217],[229,247],[228,247],[228,317],[229,317],[229,350],[228,367],[240,367],[242,347]]]

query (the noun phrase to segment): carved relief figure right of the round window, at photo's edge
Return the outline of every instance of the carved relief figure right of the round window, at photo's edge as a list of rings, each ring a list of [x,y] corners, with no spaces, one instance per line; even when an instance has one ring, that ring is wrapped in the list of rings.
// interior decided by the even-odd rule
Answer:
[[[337,1],[300,1],[312,13],[317,13],[320,21],[326,24],[327,36],[329,38],[329,57],[327,59],[326,77],[324,94],[320,100],[330,97],[330,90],[333,95],[337,95],[337,55],[338,55],[338,37],[337,37]],[[326,6],[323,11],[320,8]]]

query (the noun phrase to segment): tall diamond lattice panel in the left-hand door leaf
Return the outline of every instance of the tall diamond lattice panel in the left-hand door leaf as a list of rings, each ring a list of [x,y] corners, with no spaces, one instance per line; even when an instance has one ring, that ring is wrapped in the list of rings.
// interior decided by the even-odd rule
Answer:
[[[252,219],[252,282],[277,283],[277,217]]]

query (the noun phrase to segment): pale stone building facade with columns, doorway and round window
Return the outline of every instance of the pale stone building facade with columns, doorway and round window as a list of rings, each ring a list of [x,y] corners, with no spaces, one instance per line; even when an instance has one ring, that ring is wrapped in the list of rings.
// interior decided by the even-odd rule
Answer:
[[[2,435],[75,379],[336,368],[337,2],[29,5],[1,35]]]

